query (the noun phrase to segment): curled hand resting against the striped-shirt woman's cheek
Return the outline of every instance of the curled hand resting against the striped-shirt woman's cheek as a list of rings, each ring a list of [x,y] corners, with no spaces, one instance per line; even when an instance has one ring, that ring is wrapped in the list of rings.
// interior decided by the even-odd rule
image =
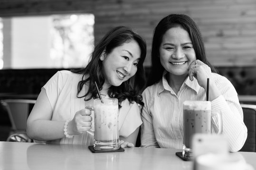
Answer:
[[[193,81],[193,77],[195,77],[198,81],[198,84],[204,89],[207,89],[207,78],[212,79],[211,68],[197,59],[190,64],[189,77],[191,81]]]

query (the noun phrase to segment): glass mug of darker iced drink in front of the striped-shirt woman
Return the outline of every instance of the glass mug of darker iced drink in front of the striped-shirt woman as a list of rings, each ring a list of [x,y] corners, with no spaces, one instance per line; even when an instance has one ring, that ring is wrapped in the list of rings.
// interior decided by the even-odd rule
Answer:
[[[218,133],[222,133],[222,117],[218,110],[211,110],[209,101],[183,102],[183,149],[182,156],[192,159],[191,140],[196,133],[211,133],[212,114],[218,116]]]

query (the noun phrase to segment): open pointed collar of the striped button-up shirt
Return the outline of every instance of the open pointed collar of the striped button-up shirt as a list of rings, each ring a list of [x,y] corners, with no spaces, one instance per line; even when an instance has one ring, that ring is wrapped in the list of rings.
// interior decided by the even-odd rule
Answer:
[[[164,90],[168,90],[170,92],[173,92],[173,90],[171,89],[170,85],[168,84],[165,75],[167,74],[167,71],[164,70],[163,75],[162,75],[162,79],[159,82],[159,88],[158,88],[158,95],[163,92]],[[186,78],[185,82],[183,83],[183,85],[180,87],[183,88],[184,85],[187,85],[188,87],[190,87],[192,90],[194,90],[196,93],[199,92],[200,89],[200,85],[198,84],[197,79],[194,77],[193,81],[190,81],[189,76]]]

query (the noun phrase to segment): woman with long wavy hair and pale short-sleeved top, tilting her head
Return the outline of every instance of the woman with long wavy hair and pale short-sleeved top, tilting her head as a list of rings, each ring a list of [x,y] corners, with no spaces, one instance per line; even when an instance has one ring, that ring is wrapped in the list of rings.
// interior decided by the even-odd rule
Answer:
[[[58,71],[42,87],[28,117],[28,136],[47,143],[93,144],[87,131],[94,130],[90,108],[98,98],[96,82],[103,98],[118,99],[121,147],[134,146],[142,124],[145,57],[146,42],[139,34],[125,26],[110,30],[85,68]]]

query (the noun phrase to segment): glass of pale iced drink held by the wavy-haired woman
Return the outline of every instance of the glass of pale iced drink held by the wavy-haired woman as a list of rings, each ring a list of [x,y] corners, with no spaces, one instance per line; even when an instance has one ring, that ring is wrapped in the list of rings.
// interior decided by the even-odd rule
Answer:
[[[94,100],[94,149],[114,151],[120,148],[118,131],[118,100]]]

